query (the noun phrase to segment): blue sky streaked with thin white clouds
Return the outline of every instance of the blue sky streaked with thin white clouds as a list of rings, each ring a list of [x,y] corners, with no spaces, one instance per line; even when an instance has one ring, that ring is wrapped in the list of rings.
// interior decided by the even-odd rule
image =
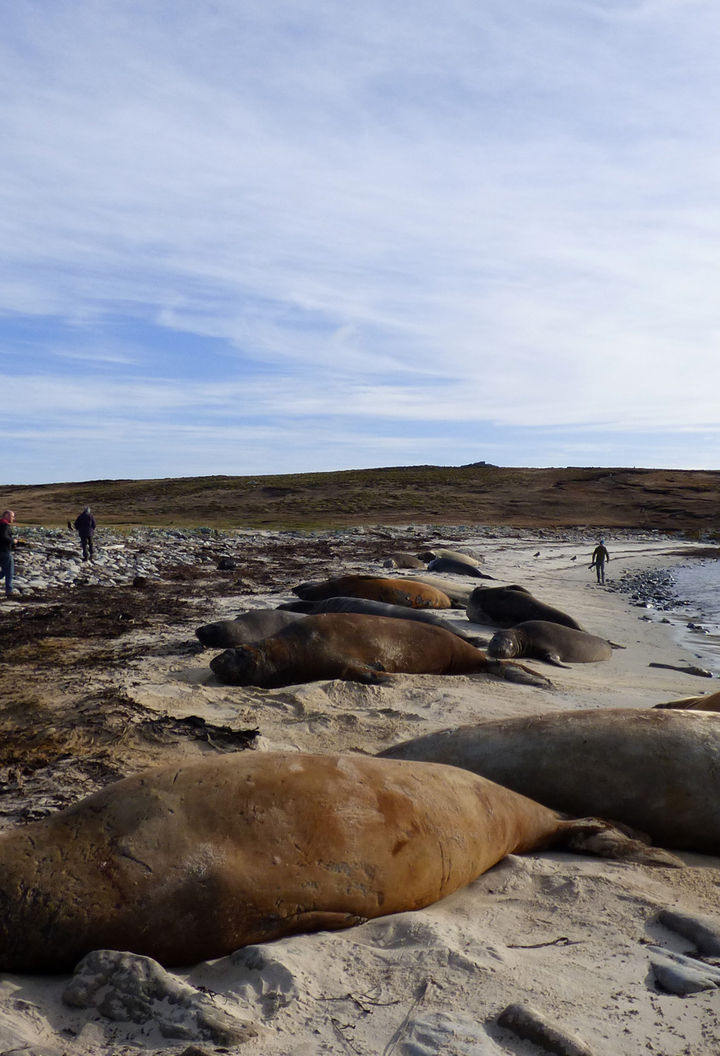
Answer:
[[[720,468],[717,0],[1,0],[0,484]]]

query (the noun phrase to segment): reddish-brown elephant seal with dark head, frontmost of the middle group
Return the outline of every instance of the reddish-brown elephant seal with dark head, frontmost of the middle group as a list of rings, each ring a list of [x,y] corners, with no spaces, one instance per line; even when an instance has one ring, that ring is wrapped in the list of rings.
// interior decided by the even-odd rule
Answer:
[[[490,659],[442,627],[359,612],[307,616],[270,638],[220,653],[210,668],[221,682],[266,689],[330,678],[381,685],[400,672],[482,672],[526,685],[551,684],[522,664]]]

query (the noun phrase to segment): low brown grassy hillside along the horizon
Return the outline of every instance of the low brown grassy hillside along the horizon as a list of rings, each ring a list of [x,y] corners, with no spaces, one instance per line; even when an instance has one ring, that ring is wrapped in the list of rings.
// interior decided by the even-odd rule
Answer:
[[[90,505],[108,526],[333,528],[359,524],[588,526],[720,534],[720,472],[410,466],[277,476],[8,486],[22,525]]]

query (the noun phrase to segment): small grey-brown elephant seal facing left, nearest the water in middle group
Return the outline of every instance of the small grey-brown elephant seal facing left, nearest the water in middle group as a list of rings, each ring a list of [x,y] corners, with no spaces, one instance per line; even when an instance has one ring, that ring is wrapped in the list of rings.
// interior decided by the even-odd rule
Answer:
[[[544,660],[555,667],[565,667],[561,661],[570,663],[594,663],[609,660],[612,646],[606,638],[598,638],[586,630],[575,630],[548,620],[528,620],[514,627],[498,630],[490,639],[488,653],[500,660],[515,657],[532,657]]]

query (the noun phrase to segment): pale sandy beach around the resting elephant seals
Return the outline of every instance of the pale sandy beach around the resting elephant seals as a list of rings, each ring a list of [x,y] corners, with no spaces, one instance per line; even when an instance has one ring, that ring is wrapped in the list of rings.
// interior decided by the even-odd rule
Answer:
[[[452,529],[433,540],[481,557],[482,570],[498,585],[518,583],[572,614],[592,634],[625,646],[614,649],[608,662],[567,670],[530,661],[551,679],[552,689],[482,675],[399,675],[382,686],[336,680],[279,690],[221,685],[208,667],[217,650],[194,647],[194,626],[288,601],[292,596],[285,585],[245,599],[236,591],[208,593],[202,608],[191,609],[184,621],[136,633],[147,644],[145,653],[135,650],[121,665],[89,668],[88,684],[121,692],[173,719],[201,716],[217,727],[258,729],[258,751],[362,754],[485,718],[644,709],[712,692],[715,680],[649,666],[700,661],[671,625],[611,589],[624,571],[679,560],[670,553],[683,544],[649,534],[608,538],[611,561],[602,587],[588,570],[594,542],[577,532],[564,539],[527,531],[473,542],[468,531],[458,539]],[[387,552],[394,549],[389,538]],[[336,557],[329,546],[306,578],[346,570],[386,574],[381,558],[350,562],[346,550]],[[474,587],[478,581],[459,577],[457,583]],[[461,610],[446,616],[466,619]],[[477,629],[490,638],[495,628]],[[60,683],[48,692],[60,694]],[[65,679],[62,693],[69,692]],[[155,744],[137,754],[136,769],[213,751],[207,741]],[[572,760],[557,765],[572,766]],[[32,795],[31,782],[27,789]],[[505,1008],[519,1003],[575,1038],[577,1048],[566,1052],[709,1056],[720,1046],[720,989],[668,994],[659,986],[648,954],[648,946],[659,946],[697,955],[687,939],[658,923],[663,909],[714,918],[720,927],[720,859],[680,856],[683,868],[566,852],[510,855],[421,911],[342,931],[299,935],[173,972],[183,1000],[160,998],[144,1012],[136,1002],[136,1021],[124,1019],[126,1013],[112,1018],[112,1002],[105,1011],[97,1001],[89,1007],[68,1004],[69,976],[5,975],[0,978],[0,1053],[531,1056],[542,1050],[498,1023]],[[198,1001],[211,1004],[224,1022],[247,1024],[247,1038],[203,1025]],[[119,1005],[114,1007],[117,1013]]]

